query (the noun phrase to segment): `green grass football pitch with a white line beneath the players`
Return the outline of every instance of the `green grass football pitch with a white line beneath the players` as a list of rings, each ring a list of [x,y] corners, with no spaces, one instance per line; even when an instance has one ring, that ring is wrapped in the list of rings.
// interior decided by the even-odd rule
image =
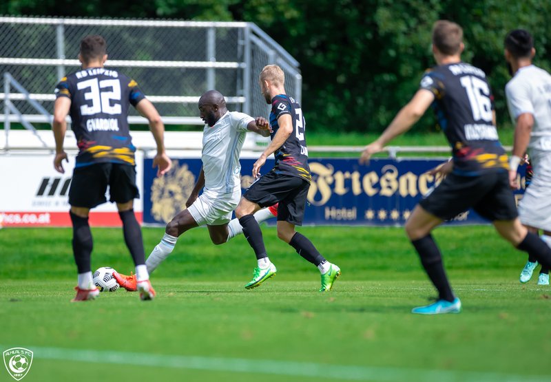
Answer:
[[[278,275],[245,290],[254,255],[185,233],[152,276],[154,301],[102,293],[71,304],[70,229],[0,230],[0,350],[34,351],[23,381],[550,381],[551,288],[518,282],[526,257],[488,226],[435,239],[459,315],[423,317],[435,296],[402,229],[304,227],[342,268],[318,270],[264,227]],[[163,229],[144,229],[146,251]],[[93,229],[92,267],[132,269],[121,230]],[[0,381],[10,381],[6,370]]]

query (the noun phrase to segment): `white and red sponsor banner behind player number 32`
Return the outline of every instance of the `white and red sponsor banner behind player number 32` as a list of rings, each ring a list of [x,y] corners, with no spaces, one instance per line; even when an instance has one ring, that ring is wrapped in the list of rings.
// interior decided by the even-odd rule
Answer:
[[[0,226],[71,226],[69,188],[76,152],[63,162],[65,173],[54,169],[53,154],[10,153],[0,156]],[[136,152],[136,182],[143,195],[143,153]],[[109,200],[109,191],[107,191]],[[134,200],[141,221],[143,204]],[[90,213],[90,224],[120,226],[116,204],[104,203]]]

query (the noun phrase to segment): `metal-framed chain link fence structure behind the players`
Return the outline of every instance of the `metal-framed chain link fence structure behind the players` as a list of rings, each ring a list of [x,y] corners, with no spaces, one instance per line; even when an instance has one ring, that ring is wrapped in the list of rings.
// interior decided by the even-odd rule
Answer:
[[[287,92],[300,102],[298,62],[253,23],[0,17],[0,74],[10,73],[52,114],[54,87],[79,70],[88,34],[105,38],[105,66],[134,78],[167,124],[202,125],[197,101],[208,89],[224,94],[231,110],[265,116],[258,74],[271,63],[286,72]],[[17,89],[5,84],[0,98],[23,118],[48,122]],[[145,123],[132,113],[131,123]]]

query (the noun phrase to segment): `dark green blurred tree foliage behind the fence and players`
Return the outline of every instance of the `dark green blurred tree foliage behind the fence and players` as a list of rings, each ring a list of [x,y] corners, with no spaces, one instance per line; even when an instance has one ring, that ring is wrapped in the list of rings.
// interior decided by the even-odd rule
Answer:
[[[434,65],[437,19],[464,28],[463,59],[488,75],[500,127],[510,127],[506,33],[529,30],[534,63],[551,69],[551,1],[541,0],[11,0],[0,2],[0,14],[256,23],[300,62],[302,106],[315,131],[384,129]],[[435,119],[426,113],[415,129],[434,131]]]

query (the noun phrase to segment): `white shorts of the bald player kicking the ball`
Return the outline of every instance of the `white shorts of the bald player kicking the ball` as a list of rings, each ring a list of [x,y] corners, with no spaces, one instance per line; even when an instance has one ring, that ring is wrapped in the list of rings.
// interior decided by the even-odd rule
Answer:
[[[187,211],[195,222],[202,226],[221,226],[231,220],[231,213],[236,209],[241,198],[241,189],[233,193],[217,193],[206,190],[191,204]]]

